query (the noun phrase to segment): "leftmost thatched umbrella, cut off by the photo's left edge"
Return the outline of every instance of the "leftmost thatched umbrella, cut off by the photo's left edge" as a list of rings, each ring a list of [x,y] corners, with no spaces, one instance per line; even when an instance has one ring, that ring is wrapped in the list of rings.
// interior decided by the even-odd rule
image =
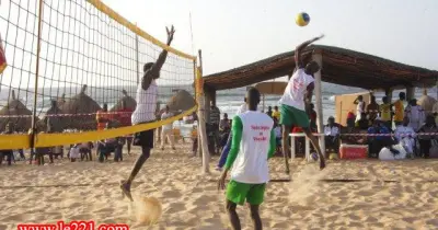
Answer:
[[[15,91],[12,90],[12,97],[8,104],[0,110],[0,115],[11,117],[0,117],[0,130],[3,131],[8,123],[14,126],[15,131],[27,131],[32,126],[32,112],[15,97]],[[15,117],[21,115],[23,117]]]

